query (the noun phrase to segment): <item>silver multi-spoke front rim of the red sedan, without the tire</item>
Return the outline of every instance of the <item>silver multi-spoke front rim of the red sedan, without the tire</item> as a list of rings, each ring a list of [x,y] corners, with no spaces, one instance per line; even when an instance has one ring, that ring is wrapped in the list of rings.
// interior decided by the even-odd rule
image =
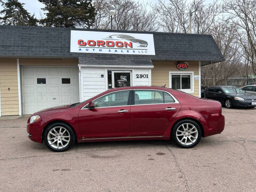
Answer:
[[[70,134],[65,127],[55,126],[48,132],[47,140],[53,148],[62,149],[69,144]]]

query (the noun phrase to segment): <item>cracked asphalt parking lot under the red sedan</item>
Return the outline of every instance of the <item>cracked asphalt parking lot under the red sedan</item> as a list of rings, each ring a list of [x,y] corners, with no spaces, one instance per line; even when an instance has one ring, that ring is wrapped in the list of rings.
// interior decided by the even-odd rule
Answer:
[[[255,191],[256,109],[225,109],[225,130],[192,149],[167,141],[80,143],[54,153],[0,120],[1,191]]]

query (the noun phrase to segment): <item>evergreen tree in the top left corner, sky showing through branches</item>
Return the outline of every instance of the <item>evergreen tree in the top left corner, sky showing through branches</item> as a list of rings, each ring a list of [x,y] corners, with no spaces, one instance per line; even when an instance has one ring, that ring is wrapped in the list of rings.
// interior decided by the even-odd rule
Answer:
[[[18,0],[1,1],[3,10],[0,11],[0,23],[2,25],[15,25],[15,26],[37,26],[37,19],[34,14],[24,9],[24,3]]]

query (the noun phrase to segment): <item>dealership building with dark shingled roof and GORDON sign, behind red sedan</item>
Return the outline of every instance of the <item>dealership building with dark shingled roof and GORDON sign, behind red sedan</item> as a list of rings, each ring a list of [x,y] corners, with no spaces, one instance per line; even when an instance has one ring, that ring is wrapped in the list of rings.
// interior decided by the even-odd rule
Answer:
[[[211,35],[0,26],[0,116],[122,86],[165,85],[201,97],[201,66],[223,60]]]

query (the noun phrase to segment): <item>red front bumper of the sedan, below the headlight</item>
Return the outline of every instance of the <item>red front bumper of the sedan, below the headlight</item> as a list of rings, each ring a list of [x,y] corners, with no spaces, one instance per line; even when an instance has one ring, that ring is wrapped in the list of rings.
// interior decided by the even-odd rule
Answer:
[[[35,122],[31,124],[27,124],[27,135],[28,138],[32,141],[42,143],[42,134],[41,134],[41,129],[40,123]]]

